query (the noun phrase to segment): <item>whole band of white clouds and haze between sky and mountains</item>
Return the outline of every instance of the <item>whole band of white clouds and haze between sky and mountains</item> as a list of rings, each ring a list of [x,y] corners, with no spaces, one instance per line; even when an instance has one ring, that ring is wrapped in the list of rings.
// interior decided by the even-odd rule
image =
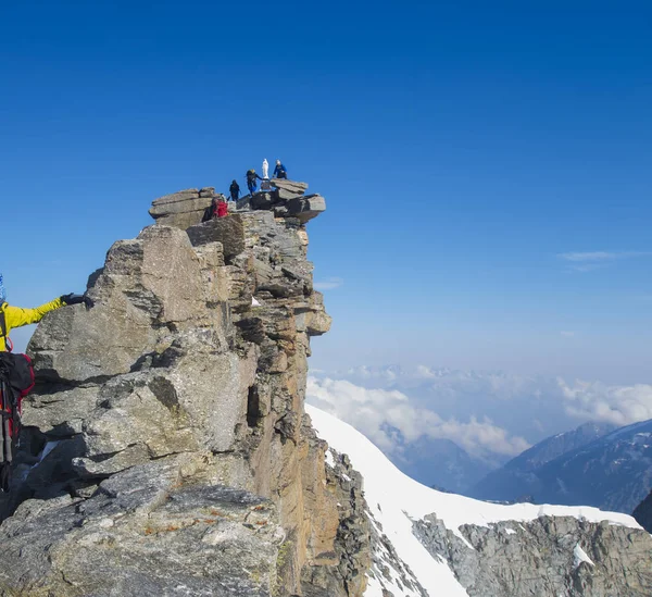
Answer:
[[[419,438],[451,439],[486,462],[589,422],[652,419],[652,385],[414,365],[313,375],[308,400],[355,426],[389,456]]]

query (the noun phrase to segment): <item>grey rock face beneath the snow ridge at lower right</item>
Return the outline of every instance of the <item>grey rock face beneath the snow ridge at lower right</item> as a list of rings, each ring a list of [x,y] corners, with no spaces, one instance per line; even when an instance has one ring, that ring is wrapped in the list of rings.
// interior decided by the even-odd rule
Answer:
[[[435,514],[414,523],[422,544],[449,562],[471,597],[645,597],[652,590],[650,537],[634,528],[542,517],[460,531],[466,542]]]

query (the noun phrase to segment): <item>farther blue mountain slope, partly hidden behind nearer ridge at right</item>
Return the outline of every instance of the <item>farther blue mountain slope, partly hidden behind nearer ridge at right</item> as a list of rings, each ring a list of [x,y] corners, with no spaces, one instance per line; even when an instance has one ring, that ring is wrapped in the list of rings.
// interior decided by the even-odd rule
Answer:
[[[614,428],[614,425],[606,423],[585,423],[576,430],[548,437],[510,460],[501,469],[491,471],[476,483],[467,495],[498,501],[517,501],[535,496],[541,490],[537,470],[555,458],[591,444]]]

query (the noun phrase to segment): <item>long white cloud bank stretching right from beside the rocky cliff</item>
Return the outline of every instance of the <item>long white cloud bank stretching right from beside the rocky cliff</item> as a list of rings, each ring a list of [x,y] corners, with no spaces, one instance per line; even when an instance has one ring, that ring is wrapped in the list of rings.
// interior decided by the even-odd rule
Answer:
[[[455,418],[444,420],[432,410],[415,406],[396,389],[372,389],[343,380],[309,377],[308,401],[350,423],[388,453],[400,449],[396,430],[405,443],[423,436],[451,439],[477,457],[516,456],[529,447],[523,437],[511,436],[488,418],[471,416],[466,422]]]

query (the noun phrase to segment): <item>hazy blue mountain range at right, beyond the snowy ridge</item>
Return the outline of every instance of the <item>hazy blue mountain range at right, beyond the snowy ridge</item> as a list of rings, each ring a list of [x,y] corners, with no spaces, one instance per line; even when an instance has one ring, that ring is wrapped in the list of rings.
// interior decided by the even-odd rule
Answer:
[[[549,437],[489,473],[472,497],[595,506],[631,513],[652,487],[652,420],[588,423]]]

